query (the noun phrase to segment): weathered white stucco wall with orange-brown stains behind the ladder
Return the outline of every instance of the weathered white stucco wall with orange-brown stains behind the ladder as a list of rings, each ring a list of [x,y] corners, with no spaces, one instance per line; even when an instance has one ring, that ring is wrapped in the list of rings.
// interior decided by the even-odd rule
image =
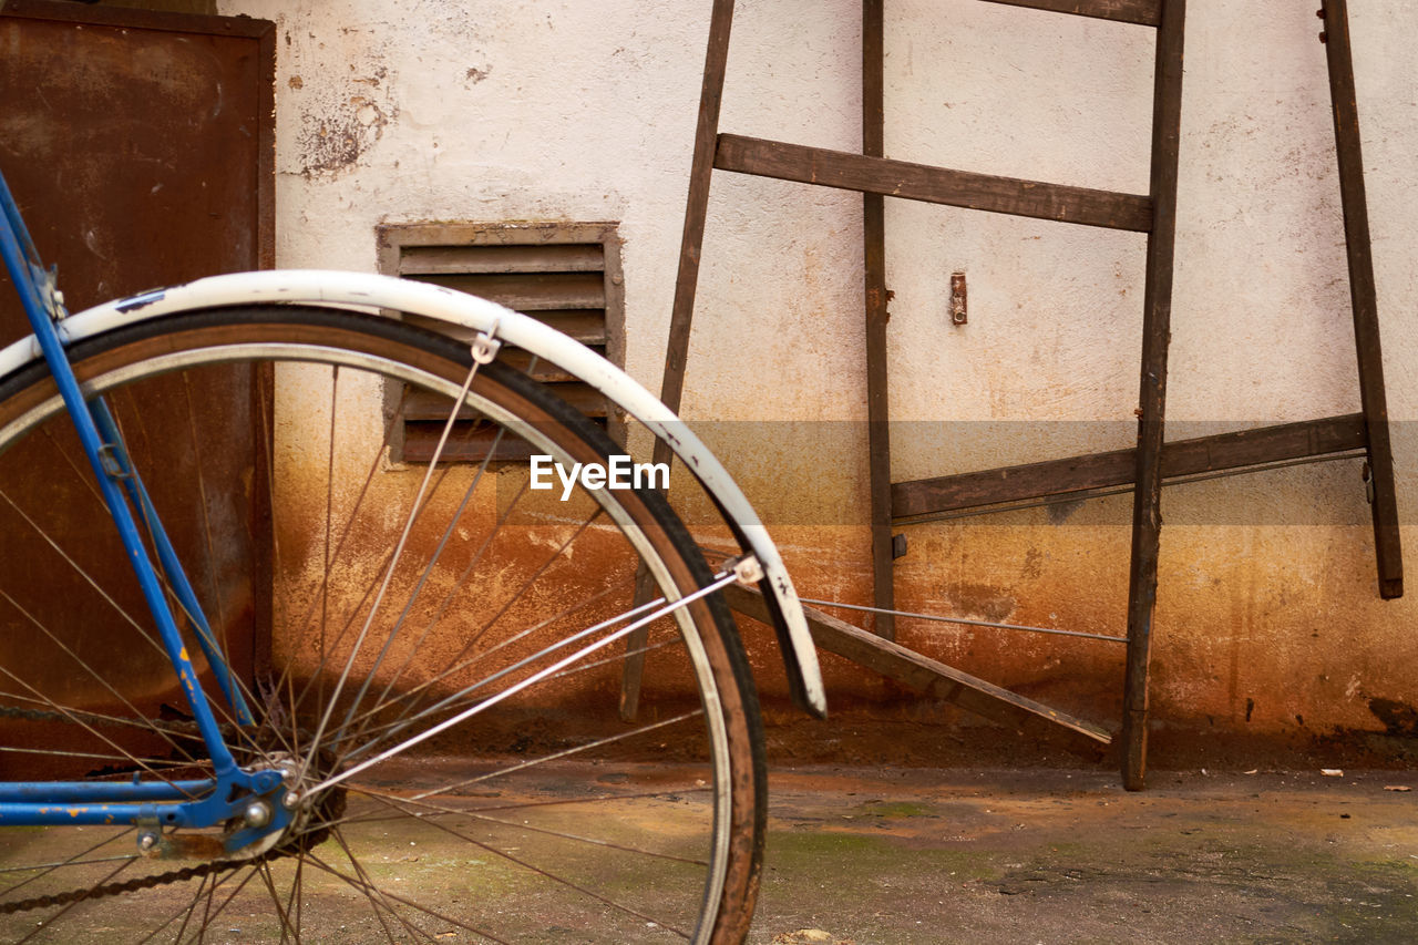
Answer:
[[[1173,437],[1357,410],[1313,4],[1188,6]],[[1407,524],[1418,509],[1408,423],[1418,9],[1350,6]],[[387,221],[617,220],[627,368],[658,385],[708,3],[225,0],[221,10],[279,30],[279,265],[374,270],[374,226]],[[722,128],[855,149],[858,17],[855,3],[739,3]],[[899,0],[888,4],[888,153],[1146,192],[1150,77],[1141,27]],[[1132,443],[1141,236],[906,203],[889,203],[886,220],[891,402],[903,421],[893,478]],[[869,592],[859,247],[852,194],[716,176],[683,410],[736,421],[708,436],[774,524],[803,592],[841,600]],[[961,328],[949,319],[953,271],[970,285]],[[1418,702],[1415,606],[1377,600],[1358,475],[1346,461],[1164,494],[1159,725],[1307,738],[1381,729],[1371,700]],[[898,599],[1122,633],[1127,507],[1116,497],[913,526]],[[1115,644],[1003,634],[900,627],[905,643],[970,673],[1117,718]],[[752,643],[777,704],[767,639]],[[827,668],[838,705],[888,712],[896,698],[855,667]]]

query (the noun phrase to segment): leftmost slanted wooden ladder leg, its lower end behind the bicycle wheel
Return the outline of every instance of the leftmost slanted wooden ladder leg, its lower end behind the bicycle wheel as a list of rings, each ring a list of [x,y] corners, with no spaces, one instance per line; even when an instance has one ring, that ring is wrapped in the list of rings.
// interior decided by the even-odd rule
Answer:
[[[709,182],[713,177],[715,142],[719,135],[719,106],[723,102],[723,78],[729,65],[729,33],[733,27],[733,0],[713,0],[709,13],[709,41],[705,45],[705,77],[699,89],[699,118],[695,123],[695,153],[689,163],[689,194],[685,197],[685,228],[679,238],[679,271],[675,275],[675,301],[669,312],[669,339],[665,342],[665,373],[659,399],[679,410],[685,390],[685,365],[689,359],[689,329],[693,325],[695,292],[699,285],[699,254],[705,243],[705,219],[709,213]],[[675,454],[664,440],[655,440],[654,463],[671,468]],[[644,566],[635,575],[635,602],[644,603],[651,582]],[[640,685],[645,671],[644,647],[649,629],[625,639],[625,671],[621,681],[620,714],[632,721],[640,707]]]

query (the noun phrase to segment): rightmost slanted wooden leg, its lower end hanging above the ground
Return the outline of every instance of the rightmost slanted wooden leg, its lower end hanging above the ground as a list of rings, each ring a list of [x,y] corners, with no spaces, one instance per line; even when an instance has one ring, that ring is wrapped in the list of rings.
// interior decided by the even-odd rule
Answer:
[[[1384,392],[1384,355],[1378,342],[1378,301],[1374,291],[1374,261],[1370,253],[1364,156],[1358,138],[1358,105],[1354,94],[1354,58],[1349,41],[1347,0],[1324,0],[1320,13],[1324,16],[1327,37],[1324,50],[1329,62],[1330,101],[1334,106],[1334,149],[1339,159],[1340,203],[1344,207],[1350,304],[1354,309],[1358,399],[1368,431],[1378,596],[1388,600],[1404,595],[1404,553],[1398,535],[1394,457],[1388,441],[1388,399]]]

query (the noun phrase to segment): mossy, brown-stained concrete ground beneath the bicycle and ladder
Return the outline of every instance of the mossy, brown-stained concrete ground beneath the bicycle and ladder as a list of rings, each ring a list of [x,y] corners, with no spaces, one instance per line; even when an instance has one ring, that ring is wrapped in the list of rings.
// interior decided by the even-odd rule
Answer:
[[[418,763],[464,765],[457,759]],[[493,797],[512,805],[522,816],[546,812],[559,820],[542,826],[583,833],[591,822],[577,813],[580,799],[594,800],[607,786],[644,799],[641,792],[654,790],[657,778],[674,773],[672,768],[547,766],[532,795],[478,797],[479,805]],[[1418,788],[1418,773],[1191,770],[1153,772],[1147,792],[1126,793],[1116,775],[1099,769],[774,766],[763,888],[750,942],[1418,942],[1418,792],[1395,790]],[[397,783],[391,782],[396,790]],[[519,806],[533,800],[549,805]],[[591,810],[617,812],[615,802],[596,803]],[[627,823],[658,836],[665,830],[662,806],[678,805],[675,812],[683,813],[685,805],[700,803],[691,795],[634,800],[635,816]],[[587,929],[600,925],[594,917],[564,908],[556,898],[562,887],[539,884],[535,875],[502,863],[501,854],[471,850],[461,834],[474,827],[455,826],[450,831],[372,820],[345,836],[360,849],[362,868],[381,887],[415,900],[427,891],[451,895],[454,905],[495,904],[505,941],[591,941]],[[584,871],[607,880],[607,870],[615,868],[607,866],[601,847],[576,847],[586,856],[566,858],[560,847],[556,856],[543,854],[536,847],[539,834],[516,823],[478,829],[489,830],[491,844],[479,849],[516,850],[516,857],[533,863],[556,863],[566,877]],[[41,837],[11,829],[4,839],[9,846],[0,853],[9,850],[28,863],[33,851],[26,844]],[[318,853],[333,868],[349,868],[335,844]],[[637,897],[651,897],[644,908],[655,911],[674,881],[672,870],[659,860],[648,863],[654,873],[627,873],[623,888],[615,888],[637,907]],[[272,864],[277,888],[289,888],[292,864]],[[223,880],[221,897],[208,897],[213,918],[203,941],[282,941],[269,895],[258,883],[240,883],[240,873],[231,877]],[[64,945],[138,941],[136,931],[150,929],[155,917],[180,917],[194,890],[201,894],[196,883],[85,902],[61,924],[43,914],[0,917],[0,941],[30,934],[37,942]],[[247,891],[238,897],[242,885]],[[230,907],[228,888],[238,897]],[[312,866],[303,888],[306,941],[476,938],[440,922],[421,922],[428,929],[417,936],[404,936],[397,927],[391,935],[369,902],[328,868]],[[170,938],[177,927],[164,928]],[[594,941],[672,938],[640,921],[623,932]]]

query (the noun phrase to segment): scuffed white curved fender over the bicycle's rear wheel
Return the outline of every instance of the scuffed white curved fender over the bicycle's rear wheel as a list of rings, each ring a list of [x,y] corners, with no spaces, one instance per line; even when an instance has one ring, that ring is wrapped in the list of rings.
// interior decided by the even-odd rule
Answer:
[[[827,695],[822,688],[822,674],[797,592],[767,529],[723,464],[709,453],[699,437],[669,407],[630,375],[580,342],[533,318],[495,302],[427,282],[411,282],[369,272],[275,270],[216,275],[186,285],[105,302],[60,322],[60,338],[68,345],[135,321],[200,308],[265,302],[370,306],[411,312],[482,332],[495,331],[499,341],[526,349],[539,359],[563,368],[600,390],[669,444],[747,542],[749,551],[763,568],[766,580],[760,582],[760,586],[767,585],[770,590],[764,597],[778,631],[794,698],[813,714],[825,715]],[[38,342],[33,336],[21,339],[0,350],[0,376],[40,358]]]

